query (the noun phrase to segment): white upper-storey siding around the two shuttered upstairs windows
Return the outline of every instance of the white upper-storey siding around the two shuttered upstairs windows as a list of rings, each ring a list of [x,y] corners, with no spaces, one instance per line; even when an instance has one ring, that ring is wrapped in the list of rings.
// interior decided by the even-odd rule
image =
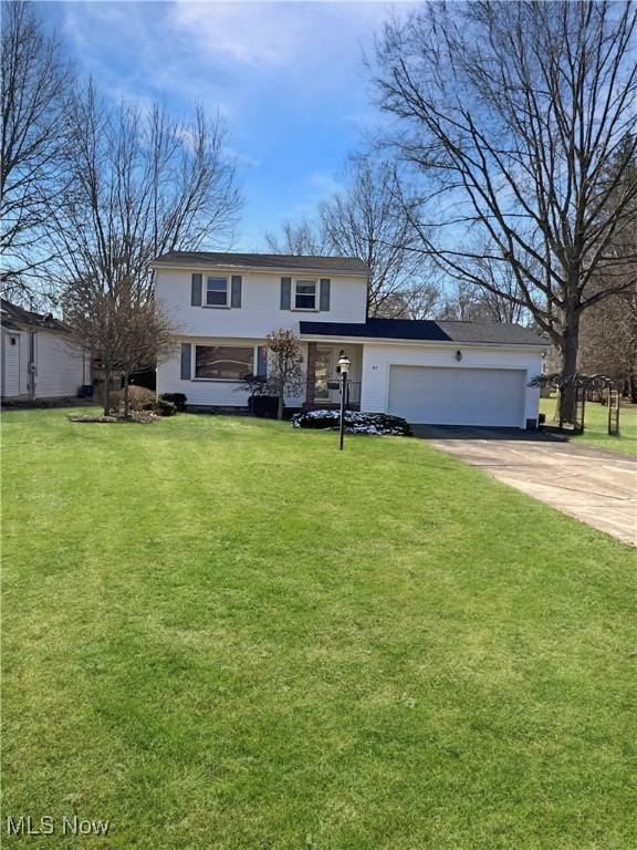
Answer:
[[[299,322],[364,322],[367,282],[364,276],[345,277],[304,274],[318,279],[330,278],[330,310],[281,310],[281,274],[255,270],[194,269],[207,274],[226,276],[240,273],[243,278],[240,308],[192,307],[190,304],[191,271],[158,269],[155,272],[155,292],[178,324],[184,335],[243,336],[262,339],[278,328],[299,331]],[[289,276],[290,277],[290,276]],[[291,277],[294,277],[293,274]]]

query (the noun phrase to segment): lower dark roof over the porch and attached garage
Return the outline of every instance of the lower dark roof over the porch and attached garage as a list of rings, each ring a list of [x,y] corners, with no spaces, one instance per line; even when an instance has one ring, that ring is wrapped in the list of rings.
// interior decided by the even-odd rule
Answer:
[[[456,322],[417,319],[367,319],[353,322],[301,322],[301,334],[322,336],[365,336],[384,340],[427,342],[478,342],[501,345],[547,345],[547,340],[531,328],[498,322]]]

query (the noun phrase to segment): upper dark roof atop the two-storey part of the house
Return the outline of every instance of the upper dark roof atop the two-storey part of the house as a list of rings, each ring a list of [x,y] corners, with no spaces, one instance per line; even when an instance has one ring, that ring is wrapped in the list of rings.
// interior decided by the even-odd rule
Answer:
[[[222,253],[219,251],[170,251],[155,263],[167,266],[236,266],[255,269],[304,269],[368,274],[369,267],[355,257],[301,257],[291,253]]]

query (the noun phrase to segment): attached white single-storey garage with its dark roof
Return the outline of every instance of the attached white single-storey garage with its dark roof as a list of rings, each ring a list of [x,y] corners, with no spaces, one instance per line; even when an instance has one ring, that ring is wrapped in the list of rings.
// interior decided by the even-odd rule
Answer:
[[[495,322],[301,322],[304,340],[363,343],[361,410],[414,425],[524,428],[537,423],[547,340]]]

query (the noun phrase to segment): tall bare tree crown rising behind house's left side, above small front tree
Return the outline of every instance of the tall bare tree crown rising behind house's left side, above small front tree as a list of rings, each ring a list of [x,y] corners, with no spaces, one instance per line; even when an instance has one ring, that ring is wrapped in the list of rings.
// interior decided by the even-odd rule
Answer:
[[[198,110],[180,123],[158,105],[113,111],[90,83],[73,93],[67,135],[65,185],[49,210],[55,282],[90,279],[108,291],[126,278],[146,290],[155,257],[230,238],[240,199],[219,118]]]

